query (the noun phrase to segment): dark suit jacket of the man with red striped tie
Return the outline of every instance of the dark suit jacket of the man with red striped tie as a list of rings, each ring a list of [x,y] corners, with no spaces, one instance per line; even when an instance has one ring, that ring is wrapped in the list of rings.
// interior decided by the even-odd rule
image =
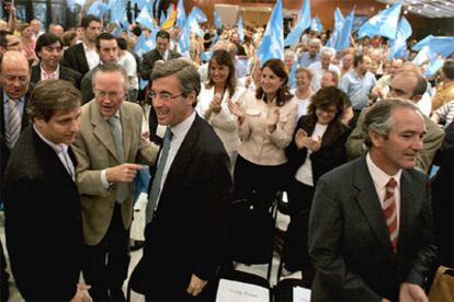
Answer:
[[[427,176],[402,171],[395,255],[365,158],[325,174],[310,210],[308,247],[313,301],[398,300],[402,282],[422,286],[436,249]]]

